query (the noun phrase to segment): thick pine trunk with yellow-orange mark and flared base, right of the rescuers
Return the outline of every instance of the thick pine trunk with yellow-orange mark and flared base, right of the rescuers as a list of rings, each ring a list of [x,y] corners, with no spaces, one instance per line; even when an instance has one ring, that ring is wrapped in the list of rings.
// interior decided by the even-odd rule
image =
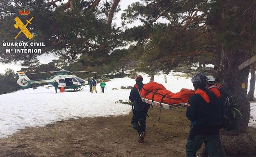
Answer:
[[[250,116],[250,103],[247,100],[249,66],[241,71],[238,70],[238,65],[251,56],[252,42],[246,43],[243,43],[244,49],[241,50],[223,49],[219,67],[219,78],[222,80],[222,86],[236,96],[236,104],[242,113],[237,129],[222,135],[222,144],[228,154],[251,155],[256,152],[255,142],[246,133]]]

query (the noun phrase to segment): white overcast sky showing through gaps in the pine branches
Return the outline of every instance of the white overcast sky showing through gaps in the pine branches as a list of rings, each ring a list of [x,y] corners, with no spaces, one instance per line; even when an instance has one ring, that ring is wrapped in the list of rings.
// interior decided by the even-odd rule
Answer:
[[[66,1],[67,0],[64,0],[64,2],[66,2]],[[121,22],[122,22],[121,13],[123,12],[123,10],[126,9],[128,7],[128,5],[130,5],[134,2],[139,2],[139,0],[121,0],[121,2],[119,3],[119,5],[121,7],[121,11],[119,11],[119,13],[113,19],[113,22],[115,22],[117,24],[117,26],[121,26]],[[158,22],[166,22],[166,20],[160,18],[160,19],[158,19]],[[135,21],[133,24],[128,24],[127,27],[133,27],[133,26],[137,26],[140,24],[141,24],[141,22]],[[57,56],[41,55],[38,58],[39,58],[41,64],[47,64],[51,60],[57,59]],[[12,63],[12,64],[1,64],[0,63],[0,73],[4,73],[5,69],[7,69],[7,68],[11,68],[14,71],[19,71],[21,69],[20,64],[21,64],[21,62]]]

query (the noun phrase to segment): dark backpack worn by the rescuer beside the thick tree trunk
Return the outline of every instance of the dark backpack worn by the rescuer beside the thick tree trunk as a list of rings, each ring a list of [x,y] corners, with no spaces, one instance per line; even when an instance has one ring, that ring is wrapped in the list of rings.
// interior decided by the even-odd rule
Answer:
[[[222,128],[227,131],[235,130],[238,125],[238,119],[242,117],[236,106],[235,95],[226,88],[219,88],[219,92],[224,106]]]

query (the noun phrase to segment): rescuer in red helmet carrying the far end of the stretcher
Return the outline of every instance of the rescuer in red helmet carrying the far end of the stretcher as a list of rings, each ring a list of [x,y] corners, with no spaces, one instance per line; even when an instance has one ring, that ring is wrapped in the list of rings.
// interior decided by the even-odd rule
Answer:
[[[133,125],[133,128],[139,133],[139,143],[143,143],[144,138],[146,137],[146,116],[150,106],[149,104],[142,102],[142,99],[139,95],[138,90],[142,89],[144,86],[142,83],[142,76],[137,75],[135,77],[135,81],[136,84],[132,88],[129,96],[129,100],[133,102],[133,117],[131,124]]]

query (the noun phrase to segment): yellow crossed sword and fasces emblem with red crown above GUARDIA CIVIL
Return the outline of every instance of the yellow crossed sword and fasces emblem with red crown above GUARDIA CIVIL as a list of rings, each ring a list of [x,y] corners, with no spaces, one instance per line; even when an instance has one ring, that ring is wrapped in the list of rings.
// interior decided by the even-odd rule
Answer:
[[[27,11],[27,10],[22,10],[22,11],[19,11],[19,13],[21,15],[28,15],[30,14],[30,11]],[[27,25],[28,24],[32,24],[31,23],[31,20],[33,19],[34,17],[30,18],[30,20],[26,20],[26,24],[23,24],[23,22],[21,21],[21,19],[17,16],[14,20],[16,21],[16,23],[14,24],[14,28],[16,29],[20,29],[20,31],[18,32],[18,34],[15,36],[14,39],[18,38],[18,36],[23,33],[27,38],[29,39],[32,39],[33,38],[33,35],[30,33],[30,31],[27,29]]]

